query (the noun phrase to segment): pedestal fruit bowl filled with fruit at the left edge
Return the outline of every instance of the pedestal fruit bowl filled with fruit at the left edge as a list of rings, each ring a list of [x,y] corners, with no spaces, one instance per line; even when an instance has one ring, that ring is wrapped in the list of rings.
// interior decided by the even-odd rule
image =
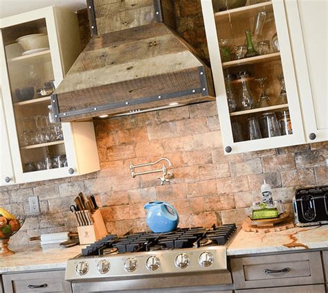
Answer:
[[[15,254],[14,251],[8,249],[8,241],[21,229],[24,220],[24,217],[12,215],[4,208],[0,208],[0,256]]]

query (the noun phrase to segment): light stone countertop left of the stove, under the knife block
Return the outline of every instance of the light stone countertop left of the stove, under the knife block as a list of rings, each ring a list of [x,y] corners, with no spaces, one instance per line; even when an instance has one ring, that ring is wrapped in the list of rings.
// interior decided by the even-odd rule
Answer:
[[[19,245],[10,246],[16,254],[0,258],[0,274],[42,269],[65,269],[66,260],[81,253],[85,247],[77,245],[62,248],[59,245]]]

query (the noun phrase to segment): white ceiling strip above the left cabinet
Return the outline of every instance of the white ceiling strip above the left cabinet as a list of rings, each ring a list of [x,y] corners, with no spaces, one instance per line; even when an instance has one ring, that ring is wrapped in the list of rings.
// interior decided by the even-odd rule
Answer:
[[[52,5],[77,11],[86,7],[86,0],[0,0],[0,19]]]

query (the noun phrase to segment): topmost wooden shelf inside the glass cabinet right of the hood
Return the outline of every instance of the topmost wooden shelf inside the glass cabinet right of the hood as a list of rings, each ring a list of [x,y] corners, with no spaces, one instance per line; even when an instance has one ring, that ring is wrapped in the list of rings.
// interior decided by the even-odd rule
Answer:
[[[266,11],[266,12],[273,11],[272,1],[267,1],[264,3],[257,3],[253,5],[217,12],[215,13],[215,20],[216,21],[226,20],[229,18],[229,15],[231,19],[235,19],[237,17],[248,18],[257,15],[257,13],[261,11]]]

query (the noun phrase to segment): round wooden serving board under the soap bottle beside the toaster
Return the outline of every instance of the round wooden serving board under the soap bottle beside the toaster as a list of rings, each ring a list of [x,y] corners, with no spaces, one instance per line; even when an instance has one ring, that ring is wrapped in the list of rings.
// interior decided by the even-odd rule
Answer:
[[[293,217],[288,213],[283,213],[280,217],[274,219],[251,220],[247,217],[242,224],[244,231],[259,233],[284,231],[293,227]]]

